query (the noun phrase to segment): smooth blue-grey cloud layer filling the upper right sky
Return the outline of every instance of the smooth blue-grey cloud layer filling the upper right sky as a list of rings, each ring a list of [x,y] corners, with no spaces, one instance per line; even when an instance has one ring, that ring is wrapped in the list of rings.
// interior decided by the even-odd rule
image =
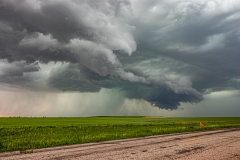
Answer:
[[[159,68],[167,70],[164,74],[187,76],[193,88],[202,93],[238,90],[239,83],[233,79],[240,76],[239,8],[239,1],[234,0],[164,1],[149,5],[136,2],[133,10],[145,20],[140,21],[141,27],[135,32],[140,39],[138,49],[153,59],[172,59],[168,64],[159,64]],[[141,14],[143,11],[147,12]],[[141,32],[145,32],[144,38]]]

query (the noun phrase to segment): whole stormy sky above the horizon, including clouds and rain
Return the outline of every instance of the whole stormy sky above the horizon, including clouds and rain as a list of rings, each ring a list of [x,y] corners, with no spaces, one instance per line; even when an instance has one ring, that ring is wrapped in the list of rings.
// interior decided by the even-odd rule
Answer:
[[[240,116],[239,0],[1,0],[0,116]]]

